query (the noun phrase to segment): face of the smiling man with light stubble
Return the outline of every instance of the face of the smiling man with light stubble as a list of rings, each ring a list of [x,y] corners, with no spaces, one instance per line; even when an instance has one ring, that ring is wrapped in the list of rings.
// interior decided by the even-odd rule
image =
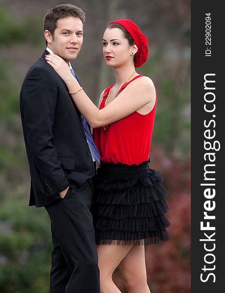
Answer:
[[[57,21],[54,35],[45,31],[48,47],[66,63],[77,58],[83,43],[83,24],[80,18],[65,17]]]

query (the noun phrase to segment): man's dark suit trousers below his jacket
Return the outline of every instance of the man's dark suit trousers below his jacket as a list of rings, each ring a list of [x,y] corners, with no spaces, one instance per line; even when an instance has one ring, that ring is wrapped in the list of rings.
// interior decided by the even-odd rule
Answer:
[[[92,179],[46,206],[54,250],[50,293],[98,293],[99,270],[90,204]]]

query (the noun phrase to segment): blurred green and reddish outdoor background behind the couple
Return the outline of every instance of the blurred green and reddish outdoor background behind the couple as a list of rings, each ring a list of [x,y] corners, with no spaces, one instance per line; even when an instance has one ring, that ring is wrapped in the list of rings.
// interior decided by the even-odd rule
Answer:
[[[45,209],[28,208],[19,93],[45,48],[43,16],[63,2],[0,0],[0,293],[49,292],[50,220]],[[72,66],[96,105],[114,82],[102,57],[105,26],[128,18],[149,40],[148,61],[137,71],[149,76],[158,92],[150,158],[170,191],[172,240],[145,248],[147,278],[152,293],[190,293],[190,0],[68,2],[86,13],[82,51]],[[113,278],[127,293],[119,268]]]

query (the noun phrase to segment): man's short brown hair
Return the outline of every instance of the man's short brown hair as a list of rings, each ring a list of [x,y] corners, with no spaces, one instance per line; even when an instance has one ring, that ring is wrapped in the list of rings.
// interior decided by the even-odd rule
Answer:
[[[51,35],[54,36],[57,21],[69,16],[78,17],[82,23],[85,22],[85,13],[81,8],[73,4],[60,4],[48,10],[48,12],[45,14],[43,20],[44,31],[47,29],[50,31]]]

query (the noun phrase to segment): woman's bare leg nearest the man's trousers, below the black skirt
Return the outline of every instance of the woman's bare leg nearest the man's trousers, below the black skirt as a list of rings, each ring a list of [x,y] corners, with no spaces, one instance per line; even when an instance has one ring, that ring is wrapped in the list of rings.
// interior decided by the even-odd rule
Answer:
[[[132,245],[98,245],[101,293],[121,293],[113,283],[112,274],[131,250]]]

